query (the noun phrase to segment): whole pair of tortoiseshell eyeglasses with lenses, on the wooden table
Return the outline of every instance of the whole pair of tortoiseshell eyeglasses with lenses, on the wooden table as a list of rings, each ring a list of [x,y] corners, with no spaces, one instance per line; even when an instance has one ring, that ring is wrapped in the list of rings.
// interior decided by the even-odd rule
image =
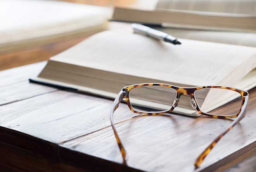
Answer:
[[[187,96],[184,103],[180,102],[182,96]],[[181,105],[183,113],[192,116],[206,115],[213,118],[236,118],[214,141],[197,157],[195,169],[199,167],[204,158],[215,144],[230,131],[246,114],[248,105],[248,92],[223,86],[200,86],[183,88],[169,84],[136,84],[126,86],[119,92],[114,100],[110,112],[111,126],[116,137],[123,163],[126,164],[126,151],[116,131],[113,120],[114,111],[125,98],[131,112],[142,115],[160,115],[174,112]],[[232,100],[232,102],[230,102]],[[190,106],[188,106],[190,101]],[[189,109],[185,110],[184,109]],[[189,114],[190,113],[190,114]]]

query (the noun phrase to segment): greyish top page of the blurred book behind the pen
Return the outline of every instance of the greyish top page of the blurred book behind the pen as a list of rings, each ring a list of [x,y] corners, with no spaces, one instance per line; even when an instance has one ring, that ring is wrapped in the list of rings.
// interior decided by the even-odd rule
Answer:
[[[159,0],[156,9],[227,12],[256,15],[254,0]]]

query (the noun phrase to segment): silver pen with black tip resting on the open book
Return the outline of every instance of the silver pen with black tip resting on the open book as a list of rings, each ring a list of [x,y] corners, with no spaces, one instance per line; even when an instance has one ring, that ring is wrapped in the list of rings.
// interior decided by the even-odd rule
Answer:
[[[171,36],[168,33],[164,33],[161,31],[157,31],[156,29],[149,28],[147,26],[144,26],[142,24],[131,24],[131,27],[133,28],[133,32],[137,34],[143,34],[145,36],[150,36],[152,38],[156,38],[157,40],[163,40],[165,42],[172,43],[174,45],[178,44],[180,45],[181,42],[177,40],[177,38]]]

